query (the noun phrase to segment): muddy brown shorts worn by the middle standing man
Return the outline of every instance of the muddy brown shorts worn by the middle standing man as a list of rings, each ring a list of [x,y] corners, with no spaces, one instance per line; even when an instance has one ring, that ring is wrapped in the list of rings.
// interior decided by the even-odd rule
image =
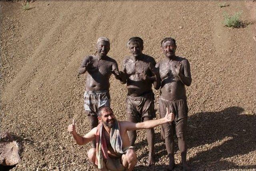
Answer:
[[[152,91],[139,97],[127,95],[126,113],[129,118],[136,118],[138,122],[143,121],[144,117],[156,117],[154,109],[154,93]]]

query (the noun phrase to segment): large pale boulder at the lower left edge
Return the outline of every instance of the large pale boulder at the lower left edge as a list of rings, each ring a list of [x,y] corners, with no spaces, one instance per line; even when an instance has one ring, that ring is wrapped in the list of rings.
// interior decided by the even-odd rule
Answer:
[[[20,162],[21,145],[14,141],[12,134],[0,133],[0,165],[16,165]]]

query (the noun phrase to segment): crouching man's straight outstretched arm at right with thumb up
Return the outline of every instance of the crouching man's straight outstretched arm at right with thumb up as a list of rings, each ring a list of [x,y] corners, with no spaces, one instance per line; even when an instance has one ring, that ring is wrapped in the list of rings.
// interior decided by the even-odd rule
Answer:
[[[168,113],[168,109],[166,109],[166,115],[164,118],[144,121],[141,123],[124,121],[123,126],[126,128],[127,131],[134,131],[137,129],[150,129],[158,125],[162,125],[166,122],[172,122],[173,120],[174,120],[174,113],[172,112]]]

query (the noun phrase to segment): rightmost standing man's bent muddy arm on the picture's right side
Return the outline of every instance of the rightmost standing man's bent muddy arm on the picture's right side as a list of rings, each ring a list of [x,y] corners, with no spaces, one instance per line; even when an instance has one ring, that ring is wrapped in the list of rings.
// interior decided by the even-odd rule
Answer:
[[[178,78],[180,81],[185,84],[186,86],[190,86],[192,82],[191,73],[190,73],[190,64],[188,60],[183,60],[181,62],[181,70],[183,69],[183,72],[179,72]],[[183,74],[184,73],[184,74]]]

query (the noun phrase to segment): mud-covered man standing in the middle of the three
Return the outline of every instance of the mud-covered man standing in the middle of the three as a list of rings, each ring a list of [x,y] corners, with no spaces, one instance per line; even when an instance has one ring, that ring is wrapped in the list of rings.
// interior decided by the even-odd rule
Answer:
[[[151,56],[142,54],[143,40],[133,37],[128,40],[127,46],[131,56],[124,59],[122,74],[125,76],[122,84],[127,83],[128,95],[126,99],[126,114],[128,121],[138,123],[156,117],[154,111],[155,88],[160,87],[160,77],[155,68],[155,60]],[[149,155],[148,165],[154,164],[154,129],[146,131]],[[129,131],[131,145],[136,141],[136,131]]]

